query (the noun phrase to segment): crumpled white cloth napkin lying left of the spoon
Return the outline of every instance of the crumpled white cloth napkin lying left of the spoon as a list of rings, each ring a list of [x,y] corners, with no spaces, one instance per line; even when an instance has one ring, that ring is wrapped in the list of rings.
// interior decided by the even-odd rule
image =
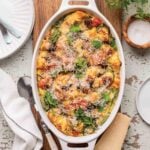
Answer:
[[[0,69],[0,104],[15,133],[13,150],[40,150],[43,139],[28,101],[19,96],[12,78]]]

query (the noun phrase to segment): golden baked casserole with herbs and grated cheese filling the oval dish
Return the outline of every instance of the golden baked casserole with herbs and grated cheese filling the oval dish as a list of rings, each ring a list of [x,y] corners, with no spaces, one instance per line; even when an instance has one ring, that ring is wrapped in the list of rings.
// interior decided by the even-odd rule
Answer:
[[[53,24],[36,68],[43,109],[59,131],[84,136],[105,123],[118,97],[121,61],[101,19],[75,11]]]

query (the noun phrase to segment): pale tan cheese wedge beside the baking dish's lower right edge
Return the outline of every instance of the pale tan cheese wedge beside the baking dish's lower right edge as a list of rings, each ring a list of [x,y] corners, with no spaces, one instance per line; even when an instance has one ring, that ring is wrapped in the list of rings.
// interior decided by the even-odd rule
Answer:
[[[121,150],[130,121],[130,117],[118,113],[112,124],[97,142],[95,150]]]

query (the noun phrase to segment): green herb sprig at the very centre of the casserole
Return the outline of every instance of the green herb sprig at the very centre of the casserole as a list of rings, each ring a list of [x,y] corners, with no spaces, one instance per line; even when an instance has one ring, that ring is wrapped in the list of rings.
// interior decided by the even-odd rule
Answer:
[[[75,75],[77,78],[82,78],[85,69],[87,68],[87,61],[85,58],[79,57],[75,63]]]

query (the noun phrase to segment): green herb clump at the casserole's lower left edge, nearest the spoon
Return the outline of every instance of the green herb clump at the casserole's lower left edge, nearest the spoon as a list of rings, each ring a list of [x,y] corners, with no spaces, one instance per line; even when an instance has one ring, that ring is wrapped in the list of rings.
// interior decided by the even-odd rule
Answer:
[[[44,96],[44,102],[49,108],[56,108],[58,101],[53,98],[52,94],[49,91],[46,91]]]

